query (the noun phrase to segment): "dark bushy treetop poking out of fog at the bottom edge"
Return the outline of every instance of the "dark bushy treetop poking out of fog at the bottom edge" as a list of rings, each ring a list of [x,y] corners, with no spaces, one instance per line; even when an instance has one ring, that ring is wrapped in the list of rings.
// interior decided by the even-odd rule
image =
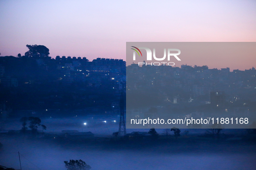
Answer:
[[[72,159],[72,160],[69,160],[69,162],[64,161],[64,163],[67,170],[90,170],[91,169],[91,166],[87,165],[81,159],[79,161]]]

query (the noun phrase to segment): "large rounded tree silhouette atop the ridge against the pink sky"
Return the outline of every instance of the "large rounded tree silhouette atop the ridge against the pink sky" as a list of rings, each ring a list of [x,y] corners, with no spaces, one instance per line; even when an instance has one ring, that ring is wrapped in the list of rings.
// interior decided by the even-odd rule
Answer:
[[[29,50],[25,53],[25,56],[32,57],[33,55],[39,54],[43,55],[43,57],[49,56],[49,49],[45,47],[44,45],[26,45],[26,47],[29,48]]]

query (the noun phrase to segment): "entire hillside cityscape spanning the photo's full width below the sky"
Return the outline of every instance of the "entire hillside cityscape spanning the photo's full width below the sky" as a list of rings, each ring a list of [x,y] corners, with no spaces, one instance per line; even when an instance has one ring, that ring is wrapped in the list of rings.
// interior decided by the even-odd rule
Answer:
[[[119,113],[120,93],[126,91],[158,93],[156,99],[165,105],[211,104],[243,113],[256,109],[255,68],[230,72],[207,66],[126,66],[123,60],[105,58],[18,56],[0,57],[3,120],[50,112]]]

